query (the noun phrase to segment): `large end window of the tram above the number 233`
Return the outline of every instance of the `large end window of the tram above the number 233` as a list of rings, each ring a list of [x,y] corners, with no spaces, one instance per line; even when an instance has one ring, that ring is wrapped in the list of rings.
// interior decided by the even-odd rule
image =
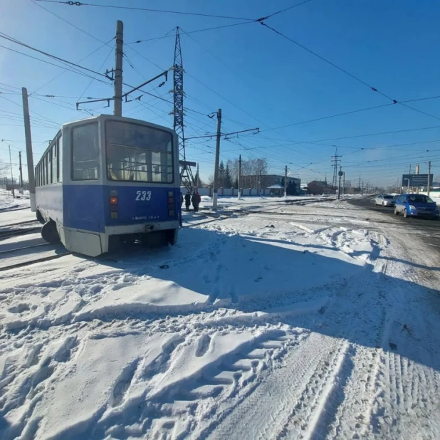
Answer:
[[[107,175],[123,182],[172,183],[172,134],[110,120],[105,122]]]

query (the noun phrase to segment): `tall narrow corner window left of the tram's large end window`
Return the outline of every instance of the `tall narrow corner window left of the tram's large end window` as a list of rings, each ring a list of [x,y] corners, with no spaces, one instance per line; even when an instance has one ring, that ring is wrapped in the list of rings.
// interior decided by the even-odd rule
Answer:
[[[72,179],[99,179],[97,123],[80,125],[72,130]]]

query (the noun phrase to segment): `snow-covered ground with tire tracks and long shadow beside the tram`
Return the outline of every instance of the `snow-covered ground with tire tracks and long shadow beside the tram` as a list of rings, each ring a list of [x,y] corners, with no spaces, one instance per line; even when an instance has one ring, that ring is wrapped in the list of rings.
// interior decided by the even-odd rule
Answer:
[[[438,256],[383,219],[249,199],[0,272],[1,439],[438,439]]]

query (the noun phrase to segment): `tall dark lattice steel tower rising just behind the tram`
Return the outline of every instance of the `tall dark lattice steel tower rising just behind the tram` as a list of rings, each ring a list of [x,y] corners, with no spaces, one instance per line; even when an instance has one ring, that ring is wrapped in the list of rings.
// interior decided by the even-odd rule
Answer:
[[[173,65],[173,78],[174,78],[174,131],[177,132],[179,137],[179,164],[180,169],[180,184],[192,192],[194,177],[192,175],[191,166],[196,165],[192,162],[187,162],[185,154],[185,137],[184,137],[184,90],[183,90],[183,63],[182,63],[182,48],[180,47],[180,35],[179,27],[176,30],[176,46],[174,47],[174,65]]]

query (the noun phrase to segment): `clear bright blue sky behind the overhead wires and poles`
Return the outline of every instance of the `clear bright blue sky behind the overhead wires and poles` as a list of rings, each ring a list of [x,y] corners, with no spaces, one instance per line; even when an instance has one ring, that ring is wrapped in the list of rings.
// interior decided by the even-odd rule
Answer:
[[[85,1],[246,19],[258,19],[300,2]],[[124,80],[130,85],[172,66],[175,27],[182,28],[187,137],[215,132],[215,118],[206,115],[218,108],[224,116],[223,132],[260,128],[258,135],[223,140],[221,159],[225,161],[239,154],[267,157],[273,173],[281,174],[288,165],[290,174],[303,182],[324,179],[325,175],[331,181],[330,157],[337,145],[348,180],[355,181],[361,175],[370,184],[392,185],[408,171],[409,164],[414,169],[419,163],[421,172],[426,172],[429,159],[434,175],[440,174],[440,98],[419,100],[440,95],[438,1],[310,0],[266,21],[387,97],[399,102],[419,100],[407,105],[428,115],[392,105],[389,98],[260,23],[186,35],[184,32],[241,20],[32,0],[0,3],[0,32],[100,72],[114,66],[112,38],[117,19],[124,22],[125,55],[135,68],[124,60]],[[162,36],[165,38],[134,43]],[[56,63],[3,38],[0,45]],[[145,90],[172,100],[172,75],[162,88],[157,87],[159,82]],[[0,47],[0,139],[5,140],[0,142],[0,162],[9,161],[8,145],[12,146],[14,164],[19,150],[24,152],[22,86],[31,93],[35,161],[58,125],[87,116],[75,110],[81,95],[112,95],[109,85]],[[172,127],[171,104],[147,95],[142,102],[124,103],[123,115]],[[390,105],[303,123],[385,104]],[[84,108],[93,113],[112,111],[112,107],[100,107],[98,103]],[[384,132],[394,133],[373,135]],[[204,179],[214,172],[214,147],[214,140],[187,144],[187,158],[199,162]],[[17,172],[14,165],[14,174]]]

